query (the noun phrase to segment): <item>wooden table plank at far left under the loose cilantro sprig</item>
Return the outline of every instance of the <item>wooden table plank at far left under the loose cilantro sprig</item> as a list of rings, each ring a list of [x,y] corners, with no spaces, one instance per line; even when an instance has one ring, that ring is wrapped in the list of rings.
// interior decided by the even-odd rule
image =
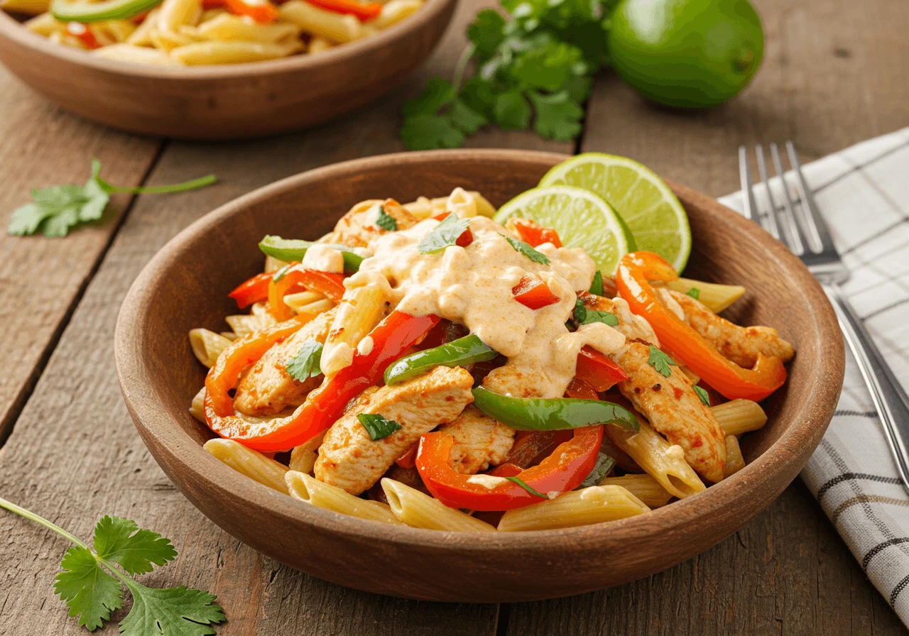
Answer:
[[[0,374],[2,444],[130,197],[115,197],[104,223],[65,241],[9,236],[9,214],[29,201],[32,188],[85,183],[92,157],[101,160],[113,183],[139,184],[160,144],[65,114],[5,68],[0,68],[0,113],[0,326],[16,334],[7,340]]]

